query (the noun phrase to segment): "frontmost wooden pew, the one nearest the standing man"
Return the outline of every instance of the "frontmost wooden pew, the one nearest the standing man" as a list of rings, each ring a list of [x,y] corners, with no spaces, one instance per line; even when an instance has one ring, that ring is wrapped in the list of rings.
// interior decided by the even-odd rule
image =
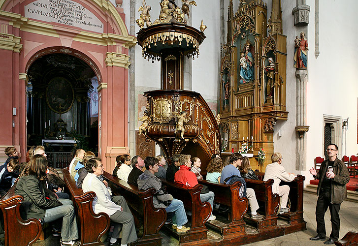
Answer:
[[[263,179],[265,173],[255,172],[260,180]],[[291,201],[290,213],[279,215],[279,217],[286,219],[291,226],[285,228],[285,234],[295,231],[305,230],[306,221],[303,220],[303,181],[306,177],[297,175],[292,182],[281,181],[280,185],[289,185]]]

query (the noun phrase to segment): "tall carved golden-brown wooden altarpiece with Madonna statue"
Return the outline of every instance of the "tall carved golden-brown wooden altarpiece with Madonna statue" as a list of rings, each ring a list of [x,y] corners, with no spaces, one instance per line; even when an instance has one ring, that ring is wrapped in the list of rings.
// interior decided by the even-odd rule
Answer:
[[[286,36],[280,5],[272,0],[271,18],[262,0],[240,1],[235,13],[230,0],[227,43],[222,49],[221,135],[228,143],[224,151],[238,151],[243,143],[252,145],[251,165],[260,171],[271,163],[276,121],[288,116]],[[263,165],[256,158],[260,148],[267,152]]]

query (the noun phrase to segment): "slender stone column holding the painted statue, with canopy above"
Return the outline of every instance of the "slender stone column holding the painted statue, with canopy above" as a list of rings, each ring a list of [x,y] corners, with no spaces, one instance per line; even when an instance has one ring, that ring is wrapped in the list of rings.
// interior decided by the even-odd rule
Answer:
[[[305,38],[308,37],[308,23],[310,6],[306,5],[306,0],[296,0],[296,7],[293,8],[294,26],[296,35],[299,36],[303,31]],[[293,41],[293,40],[292,40]],[[309,44],[308,44],[309,45]],[[307,53],[308,54],[308,53]],[[307,56],[307,67],[309,57]],[[305,133],[308,131],[307,125],[307,69],[297,68],[296,76],[296,158],[295,169],[298,171],[306,170],[307,159],[307,140]]]

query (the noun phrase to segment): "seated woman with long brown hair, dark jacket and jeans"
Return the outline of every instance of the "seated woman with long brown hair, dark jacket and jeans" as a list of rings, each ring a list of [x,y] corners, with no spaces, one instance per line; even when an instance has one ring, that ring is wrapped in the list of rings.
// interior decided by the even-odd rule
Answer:
[[[57,199],[55,193],[46,188],[46,157],[35,154],[26,164],[16,184],[15,194],[24,197],[20,214],[24,219],[36,218],[43,223],[59,222],[61,225],[61,246],[79,245],[77,222],[73,203],[68,199]],[[59,220],[60,219],[60,220]],[[57,228],[59,228],[57,227]]]

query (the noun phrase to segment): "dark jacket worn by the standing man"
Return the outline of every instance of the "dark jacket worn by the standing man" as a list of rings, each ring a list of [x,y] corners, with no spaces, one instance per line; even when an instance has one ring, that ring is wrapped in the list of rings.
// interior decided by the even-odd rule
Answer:
[[[317,195],[320,195],[320,189],[322,186],[323,179],[325,178],[325,173],[327,172],[328,160],[325,160],[321,164],[321,168],[318,171],[316,176],[313,176],[315,179],[318,179],[320,182],[317,187]],[[333,173],[334,178],[331,182],[331,203],[342,203],[345,198],[347,198],[347,187],[346,184],[349,182],[349,172],[346,164],[343,161],[336,158],[333,163]]]

